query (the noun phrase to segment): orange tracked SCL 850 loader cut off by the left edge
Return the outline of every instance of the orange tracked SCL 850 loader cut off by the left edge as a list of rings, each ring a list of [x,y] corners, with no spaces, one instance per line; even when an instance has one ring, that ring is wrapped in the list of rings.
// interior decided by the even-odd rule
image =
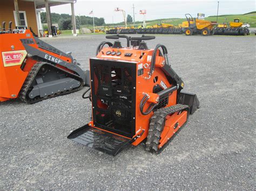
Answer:
[[[28,29],[0,30],[0,102],[36,103],[77,91],[86,76],[71,52],[64,53]]]

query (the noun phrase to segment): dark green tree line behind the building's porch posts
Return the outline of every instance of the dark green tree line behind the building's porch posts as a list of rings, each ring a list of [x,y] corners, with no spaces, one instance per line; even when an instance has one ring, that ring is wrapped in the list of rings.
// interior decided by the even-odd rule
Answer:
[[[51,13],[51,20],[52,23],[58,23],[60,30],[71,30],[71,15],[69,14],[58,14],[58,13]],[[47,23],[46,20],[46,12],[41,12],[41,22]],[[105,24],[104,18],[95,17],[94,18],[95,26],[102,26]],[[76,27],[80,29],[80,25],[93,25],[93,18],[88,16],[76,16]]]

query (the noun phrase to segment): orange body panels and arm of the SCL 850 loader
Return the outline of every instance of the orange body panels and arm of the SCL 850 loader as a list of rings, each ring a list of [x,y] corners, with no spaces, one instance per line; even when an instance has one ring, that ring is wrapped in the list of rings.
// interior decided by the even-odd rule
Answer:
[[[33,40],[29,46],[71,63],[68,57],[39,48],[29,30],[24,30],[23,33],[0,34],[0,102],[18,97],[29,71],[37,63],[37,60],[29,58],[21,39]],[[24,62],[25,67],[22,69]]]

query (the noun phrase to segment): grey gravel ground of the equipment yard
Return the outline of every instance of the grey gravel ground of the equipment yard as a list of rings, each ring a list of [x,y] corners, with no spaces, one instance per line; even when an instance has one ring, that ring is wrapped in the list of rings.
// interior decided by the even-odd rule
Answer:
[[[48,43],[88,69],[103,35]],[[159,154],[144,145],[116,157],[66,136],[89,121],[84,91],[28,105],[0,103],[0,189],[255,189],[256,38],[157,36],[201,108]],[[254,76],[254,77],[253,77]]]

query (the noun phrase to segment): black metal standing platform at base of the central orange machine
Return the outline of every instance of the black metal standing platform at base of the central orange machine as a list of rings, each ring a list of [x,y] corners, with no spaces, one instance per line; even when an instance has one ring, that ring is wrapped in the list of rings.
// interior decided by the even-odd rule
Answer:
[[[88,124],[73,131],[68,139],[113,156],[131,144],[131,139],[92,128]]]

